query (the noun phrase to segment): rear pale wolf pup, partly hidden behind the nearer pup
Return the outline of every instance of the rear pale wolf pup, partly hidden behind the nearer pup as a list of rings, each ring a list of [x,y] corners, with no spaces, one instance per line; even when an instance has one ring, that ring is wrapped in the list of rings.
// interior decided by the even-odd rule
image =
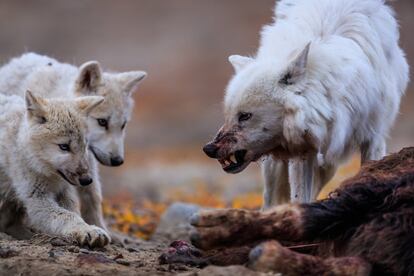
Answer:
[[[23,96],[27,89],[39,90],[47,98],[104,97],[88,117],[89,149],[102,165],[120,166],[124,162],[125,127],[133,109],[132,93],[145,77],[142,71],[104,73],[96,61],[78,68],[27,53],[0,69],[0,91]],[[87,223],[106,229],[98,167],[92,156],[89,162],[94,184],[79,191],[82,216]]]

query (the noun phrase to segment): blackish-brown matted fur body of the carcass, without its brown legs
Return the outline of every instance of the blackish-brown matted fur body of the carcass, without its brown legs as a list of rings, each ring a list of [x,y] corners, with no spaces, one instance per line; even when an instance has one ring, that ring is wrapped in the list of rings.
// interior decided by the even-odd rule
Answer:
[[[373,274],[414,274],[414,148],[367,164],[330,198],[305,204],[304,239],[333,241]]]

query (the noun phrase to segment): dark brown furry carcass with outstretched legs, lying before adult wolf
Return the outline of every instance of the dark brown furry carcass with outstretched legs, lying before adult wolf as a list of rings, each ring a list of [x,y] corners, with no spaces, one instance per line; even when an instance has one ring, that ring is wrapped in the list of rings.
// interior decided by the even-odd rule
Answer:
[[[414,148],[368,162],[328,199],[267,211],[203,211],[192,218],[202,249],[259,242],[250,267],[283,275],[413,275]],[[264,240],[273,240],[264,242]],[[276,241],[277,240],[277,241]],[[319,243],[316,255],[279,242]]]

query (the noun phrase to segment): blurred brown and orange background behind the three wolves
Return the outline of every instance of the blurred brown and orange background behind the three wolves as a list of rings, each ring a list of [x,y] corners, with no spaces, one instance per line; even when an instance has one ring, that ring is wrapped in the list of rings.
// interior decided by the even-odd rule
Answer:
[[[208,159],[202,145],[223,120],[222,98],[233,70],[230,54],[254,54],[274,0],[0,1],[0,61],[25,51],[105,70],[146,70],[134,95],[126,163],[101,168],[106,198],[136,202],[188,200],[260,204],[257,164],[233,176]],[[414,1],[391,3],[401,45],[414,59]],[[413,145],[414,86],[391,132],[389,151]],[[357,160],[357,159],[355,159]],[[334,182],[358,168],[353,161]]]

